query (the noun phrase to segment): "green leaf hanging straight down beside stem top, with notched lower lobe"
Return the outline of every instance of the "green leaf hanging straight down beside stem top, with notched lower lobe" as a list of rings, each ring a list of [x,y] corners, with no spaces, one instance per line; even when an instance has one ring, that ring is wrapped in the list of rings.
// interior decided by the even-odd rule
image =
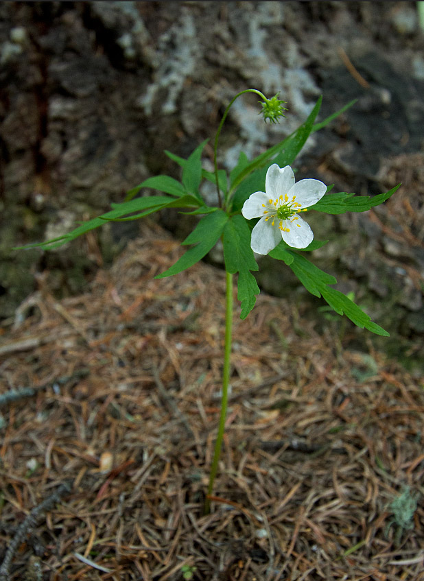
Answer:
[[[250,228],[243,216],[236,214],[228,220],[222,241],[226,271],[231,274],[239,273],[237,298],[242,303],[240,317],[245,319],[255,307],[255,295],[259,294],[255,276],[250,270],[259,270],[259,267],[250,248]]]

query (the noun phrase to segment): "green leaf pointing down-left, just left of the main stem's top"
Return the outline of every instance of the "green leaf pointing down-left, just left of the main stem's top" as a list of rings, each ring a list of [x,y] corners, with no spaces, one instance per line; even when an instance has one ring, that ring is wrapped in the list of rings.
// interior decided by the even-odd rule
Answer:
[[[215,246],[227,221],[228,216],[222,210],[217,210],[202,217],[193,232],[182,242],[183,245],[196,244],[196,246],[189,248],[171,268],[154,278],[165,278],[166,276],[178,274],[178,272],[182,272],[182,270],[186,270],[200,261]]]

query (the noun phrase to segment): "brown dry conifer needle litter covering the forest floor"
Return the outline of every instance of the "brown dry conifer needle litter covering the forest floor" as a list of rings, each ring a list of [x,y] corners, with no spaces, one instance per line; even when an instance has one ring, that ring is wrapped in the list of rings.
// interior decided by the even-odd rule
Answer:
[[[287,300],[261,294],[244,321],[235,309],[202,514],[224,273],[154,280],[180,248],[141,232],[85,294],[40,289],[0,328],[2,578],[424,580],[423,380],[372,337],[369,353],[340,348]]]

